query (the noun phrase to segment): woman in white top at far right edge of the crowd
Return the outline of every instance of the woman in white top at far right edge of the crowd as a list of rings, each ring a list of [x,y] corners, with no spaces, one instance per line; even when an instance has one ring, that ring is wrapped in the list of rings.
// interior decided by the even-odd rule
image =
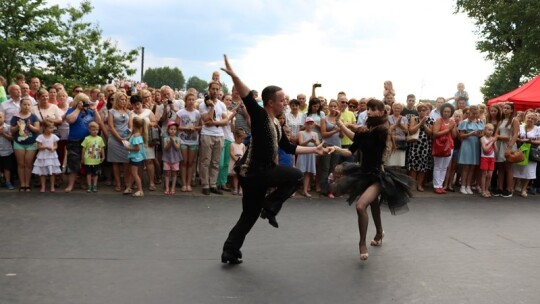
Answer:
[[[525,117],[525,125],[519,127],[519,134],[517,142],[522,145],[534,145],[540,144],[540,127],[535,126],[538,118],[535,113],[529,113]],[[529,180],[536,178],[536,166],[537,162],[529,158],[527,165],[513,164],[512,170],[514,172],[514,178],[518,179],[521,186],[521,196],[527,197],[527,186]]]

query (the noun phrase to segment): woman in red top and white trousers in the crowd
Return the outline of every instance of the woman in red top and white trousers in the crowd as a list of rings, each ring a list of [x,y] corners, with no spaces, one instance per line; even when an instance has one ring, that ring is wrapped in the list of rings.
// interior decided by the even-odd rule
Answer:
[[[451,118],[454,115],[454,106],[445,103],[441,106],[440,113],[441,118],[433,125],[433,190],[437,194],[444,194],[444,177],[452,158],[457,129],[456,122]]]

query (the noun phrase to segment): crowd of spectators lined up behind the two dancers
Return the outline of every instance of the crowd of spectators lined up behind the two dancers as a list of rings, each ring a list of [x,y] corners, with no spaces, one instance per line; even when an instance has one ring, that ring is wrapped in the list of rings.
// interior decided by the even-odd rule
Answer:
[[[119,81],[68,92],[60,83],[43,86],[39,78],[27,82],[22,75],[8,86],[1,77],[0,82],[0,167],[10,190],[17,180],[20,192],[32,186],[55,192],[61,185],[71,192],[79,184],[97,192],[100,180],[133,196],[144,196],[145,190],[192,192],[194,186],[205,195],[242,195],[232,168],[249,149],[251,121],[235,88],[224,94],[218,72],[207,92]],[[370,98],[339,92],[327,99],[316,96],[318,87],[313,85],[309,98],[285,96],[280,123],[295,144],[347,148],[352,141],[337,122],[353,131],[363,127]],[[400,103],[395,94],[386,81],[391,154],[385,166],[406,170],[417,191],[428,186],[437,194],[477,192],[486,198],[540,191],[537,109],[516,112],[511,102],[469,105],[461,83],[453,96],[434,103],[418,103],[413,94]],[[525,155],[520,162],[510,157],[518,150]],[[276,162],[304,173],[299,194],[334,198],[330,184],[339,178],[340,164],[358,159],[337,154],[295,159],[280,151]]]

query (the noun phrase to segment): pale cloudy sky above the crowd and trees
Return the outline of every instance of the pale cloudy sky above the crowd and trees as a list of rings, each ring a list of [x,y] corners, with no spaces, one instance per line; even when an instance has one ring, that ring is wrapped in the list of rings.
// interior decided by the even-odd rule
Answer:
[[[50,3],[78,5],[78,0]],[[209,80],[228,54],[253,89],[281,86],[291,97],[382,98],[391,80],[407,94],[453,96],[465,83],[471,103],[493,64],[475,49],[472,21],[455,0],[93,0],[88,18],[122,49],[145,47],[145,68],[170,66]],[[140,79],[140,58],[134,63]],[[231,83],[221,73],[222,80]],[[229,86],[230,87],[230,86]]]

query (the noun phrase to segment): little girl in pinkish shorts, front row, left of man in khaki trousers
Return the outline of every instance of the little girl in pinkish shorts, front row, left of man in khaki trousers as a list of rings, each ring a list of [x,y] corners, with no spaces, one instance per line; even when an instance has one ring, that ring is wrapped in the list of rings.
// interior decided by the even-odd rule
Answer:
[[[180,170],[180,138],[176,135],[178,125],[171,120],[167,123],[167,135],[163,137],[163,171],[165,173],[165,195],[175,194],[176,177]],[[169,187],[169,180],[172,176],[172,184]]]

